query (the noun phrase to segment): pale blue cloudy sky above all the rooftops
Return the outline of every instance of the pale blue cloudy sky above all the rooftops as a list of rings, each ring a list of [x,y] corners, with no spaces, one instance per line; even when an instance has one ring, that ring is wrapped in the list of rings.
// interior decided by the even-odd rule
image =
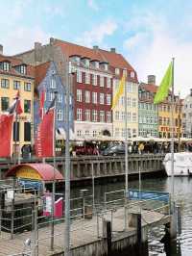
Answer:
[[[13,55],[60,38],[84,46],[115,47],[139,82],[156,84],[175,58],[175,91],[192,88],[190,0],[0,0],[0,44]]]

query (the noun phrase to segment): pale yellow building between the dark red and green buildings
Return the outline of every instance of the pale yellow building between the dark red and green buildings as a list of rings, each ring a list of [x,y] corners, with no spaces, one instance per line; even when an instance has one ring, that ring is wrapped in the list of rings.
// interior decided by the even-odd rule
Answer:
[[[120,76],[113,79],[113,96],[119,86],[123,70]],[[127,121],[128,121],[128,138],[138,136],[138,82],[136,72],[127,70]],[[122,95],[113,109],[113,137],[121,140],[125,139],[125,95]]]

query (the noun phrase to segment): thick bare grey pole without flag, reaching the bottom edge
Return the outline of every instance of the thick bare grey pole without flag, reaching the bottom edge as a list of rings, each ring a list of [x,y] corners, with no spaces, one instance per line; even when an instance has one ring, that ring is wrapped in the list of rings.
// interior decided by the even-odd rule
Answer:
[[[65,230],[64,255],[70,256],[70,154],[69,154],[69,62],[66,60],[66,141],[65,141]]]

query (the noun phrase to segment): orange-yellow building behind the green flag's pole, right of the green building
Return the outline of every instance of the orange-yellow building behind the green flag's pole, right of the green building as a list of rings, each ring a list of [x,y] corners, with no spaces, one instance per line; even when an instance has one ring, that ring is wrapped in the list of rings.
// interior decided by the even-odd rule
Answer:
[[[182,103],[178,96],[175,96],[174,104],[174,137],[182,137],[181,108]],[[159,138],[171,138],[171,95],[158,105],[158,134]]]

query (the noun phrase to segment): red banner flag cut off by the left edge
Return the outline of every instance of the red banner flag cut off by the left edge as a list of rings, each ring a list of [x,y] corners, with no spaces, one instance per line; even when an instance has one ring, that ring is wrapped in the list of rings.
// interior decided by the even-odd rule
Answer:
[[[0,157],[11,157],[13,115],[0,115]]]

